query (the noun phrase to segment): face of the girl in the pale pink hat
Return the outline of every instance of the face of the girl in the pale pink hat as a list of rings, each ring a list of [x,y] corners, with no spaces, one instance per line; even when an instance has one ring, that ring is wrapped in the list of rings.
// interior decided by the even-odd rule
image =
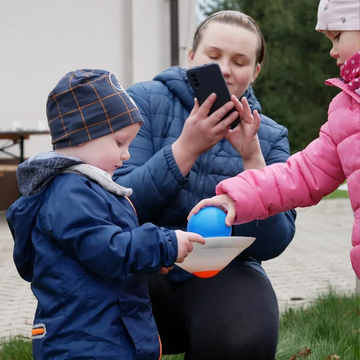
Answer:
[[[360,31],[324,31],[331,40],[330,56],[341,66],[349,57],[360,50]]]

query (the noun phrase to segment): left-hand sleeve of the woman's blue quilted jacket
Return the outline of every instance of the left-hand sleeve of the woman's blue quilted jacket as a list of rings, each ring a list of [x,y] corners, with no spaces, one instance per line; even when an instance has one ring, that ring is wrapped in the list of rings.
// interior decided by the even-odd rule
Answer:
[[[151,219],[151,214],[161,211],[188,182],[188,178],[179,170],[170,145],[155,153],[153,151],[149,96],[154,96],[151,106],[155,106],[156,96],[159,95],[149,95],[142,84],[131,86],[127,92],[138,106],[144,124],[129,146],[130,159],[115,171],[113,179],[133,189],[131,201],[139,223],[143,223]]]

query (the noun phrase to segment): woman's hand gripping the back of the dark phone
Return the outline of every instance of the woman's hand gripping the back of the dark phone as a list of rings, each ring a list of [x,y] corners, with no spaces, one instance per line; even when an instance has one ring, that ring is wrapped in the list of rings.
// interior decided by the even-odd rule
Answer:
[[[188,173],[199,155],[226,136],[229,126],[238,116],[238,112],[233,111],[221,120],[235,106],[233,101],[225,103],[208,116],[215,99],[216,94],[212,93],[201,106],[195,99],[195,105],[184,123],[179,138],[171,146],[177,166],[183,175]]]

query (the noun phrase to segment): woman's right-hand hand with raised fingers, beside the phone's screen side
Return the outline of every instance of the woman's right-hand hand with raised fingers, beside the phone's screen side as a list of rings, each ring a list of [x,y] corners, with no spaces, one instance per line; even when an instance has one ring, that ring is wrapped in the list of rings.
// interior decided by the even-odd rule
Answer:
[[[260,115],[257,110],[251,113],[246,97],[242,97],[241,101],[239,101],[235,95],[232,95],[231,101],[235,104],[241,121],[233,130],[229,130],[226,133],[225,138],[241,155],[244,170],[249,168],[261,169],[266,164],[257,136],[257,130],[260,126]]]

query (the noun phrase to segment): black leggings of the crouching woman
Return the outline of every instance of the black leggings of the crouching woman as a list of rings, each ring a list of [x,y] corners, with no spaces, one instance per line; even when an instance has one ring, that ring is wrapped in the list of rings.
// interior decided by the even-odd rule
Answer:
[[[183,284],[148,276],[163,354],[186,360],[273,360],[278,306],[271,284],[257,271],[228,265],[216,276]]]

